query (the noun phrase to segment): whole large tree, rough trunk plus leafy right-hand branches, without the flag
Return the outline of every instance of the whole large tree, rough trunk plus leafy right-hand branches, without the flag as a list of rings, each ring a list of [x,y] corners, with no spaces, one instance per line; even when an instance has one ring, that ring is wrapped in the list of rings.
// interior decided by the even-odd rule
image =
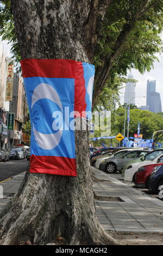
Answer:
[[[111,26],[109,18],[111,15],[116,17],[114,8],[120,22],[116,32],[104,36],[108,31],[106,28]],[[153,18],[153,27],[159,29],[162,1],[11,0],[11,11],[22,59],[73,59],[100,63],[96,72],[95,106],[99,93],[111,77],[111,70],[119,73],[125,70],[122,61],[124,48],[131,47],[134,52],[136,22],[144,23],[148,13]],[[118,21],[115,20],[112,29]],[[130,44],[127,46],[129,35]],[[140,37],[143,40],[142,34]],[[153,54],[156,50],[153,48],[151,52]],[[125,53],[129,60],[128,51]],[[96,61],[95,55],[99,57]],[[147,63],[152,63],[152,57],[147,55],[143,60],[148,58]],[[135,63],[140,63],[136,57]],[[126,69],[130,65],[128,62]],[[0,214],[3,244],[11,245],[25,239],[44,244],[56,236],[65,237],[70,244],[116,243],[105,233],[96,217],[87,143],[87,131],[76,131],[77,178],[26,174],[18,193]]]

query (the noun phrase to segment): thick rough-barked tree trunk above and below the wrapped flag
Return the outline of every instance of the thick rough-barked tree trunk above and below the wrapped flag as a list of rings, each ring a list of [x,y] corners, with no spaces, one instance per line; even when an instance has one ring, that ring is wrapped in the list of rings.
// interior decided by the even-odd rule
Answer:
[[[91,47],[86,48],[86,40],[90,39],[90,46],[90,26],[93,26],[90,17],[98,1],[11,2],[22,59],[89,62],[88,56],[92,52]],[[103,15],[104,9],[101,7]],[[95,27],[92,27],[93,31],[96,31]],[[92,34],[92,38],[95,36]],[[30,240],[40,245],[62,236],[70,245],[116,244],[96,217],[87,131],[76,131],[76,156],[77,177],[35,173],[25,175],[15,197],[1,211],[1,243],[13,245]]]

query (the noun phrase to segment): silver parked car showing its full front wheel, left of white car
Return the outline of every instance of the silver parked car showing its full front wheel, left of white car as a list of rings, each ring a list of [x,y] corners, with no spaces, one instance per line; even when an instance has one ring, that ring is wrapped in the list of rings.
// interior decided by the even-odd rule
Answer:
[[[128,153],[128,154],[127,154]],[[107,173],[115,173],[117,170],[121,172],[123,165],[130,161],[140,157],[141,154],[145,155],[148,150],[142,149],[123,149],[114,154],[114,157],[109,157],[103,160],[100,164],[100,169],[105,170]]]

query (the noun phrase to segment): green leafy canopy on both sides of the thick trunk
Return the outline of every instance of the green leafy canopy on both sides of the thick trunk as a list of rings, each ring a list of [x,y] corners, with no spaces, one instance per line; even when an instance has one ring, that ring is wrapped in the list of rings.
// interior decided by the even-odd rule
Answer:
[[[103,2],[103,1],[102,1]],[[107,1],[106,1],[107,2]],[[12,43],[11,52],[21,60],[17,44],[11,1],[0,1],[0,35]],[[153,68],[155,54],[162,49],[163,2],[161,0],[115,0],[108,2],[104,17],[96,17],[96,36],[87,46],[90,62],[96,67],[93,107],[112,109],[128,69],[142,74]],[[96,16],[96,9],[92,15]]]

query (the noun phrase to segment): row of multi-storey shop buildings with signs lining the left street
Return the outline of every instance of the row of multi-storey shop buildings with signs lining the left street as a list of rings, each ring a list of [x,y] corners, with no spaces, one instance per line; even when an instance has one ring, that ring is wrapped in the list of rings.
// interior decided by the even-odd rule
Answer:
[[[9,113],[14,114],[13,127],[8,125]],[[23,142],[23,125],[26,120],[27,101],[23,78],[14,73],[14,65],[7,58],[0,41],[0,148],[14,148]],[[29,142],[27,138],[26,142]]]

